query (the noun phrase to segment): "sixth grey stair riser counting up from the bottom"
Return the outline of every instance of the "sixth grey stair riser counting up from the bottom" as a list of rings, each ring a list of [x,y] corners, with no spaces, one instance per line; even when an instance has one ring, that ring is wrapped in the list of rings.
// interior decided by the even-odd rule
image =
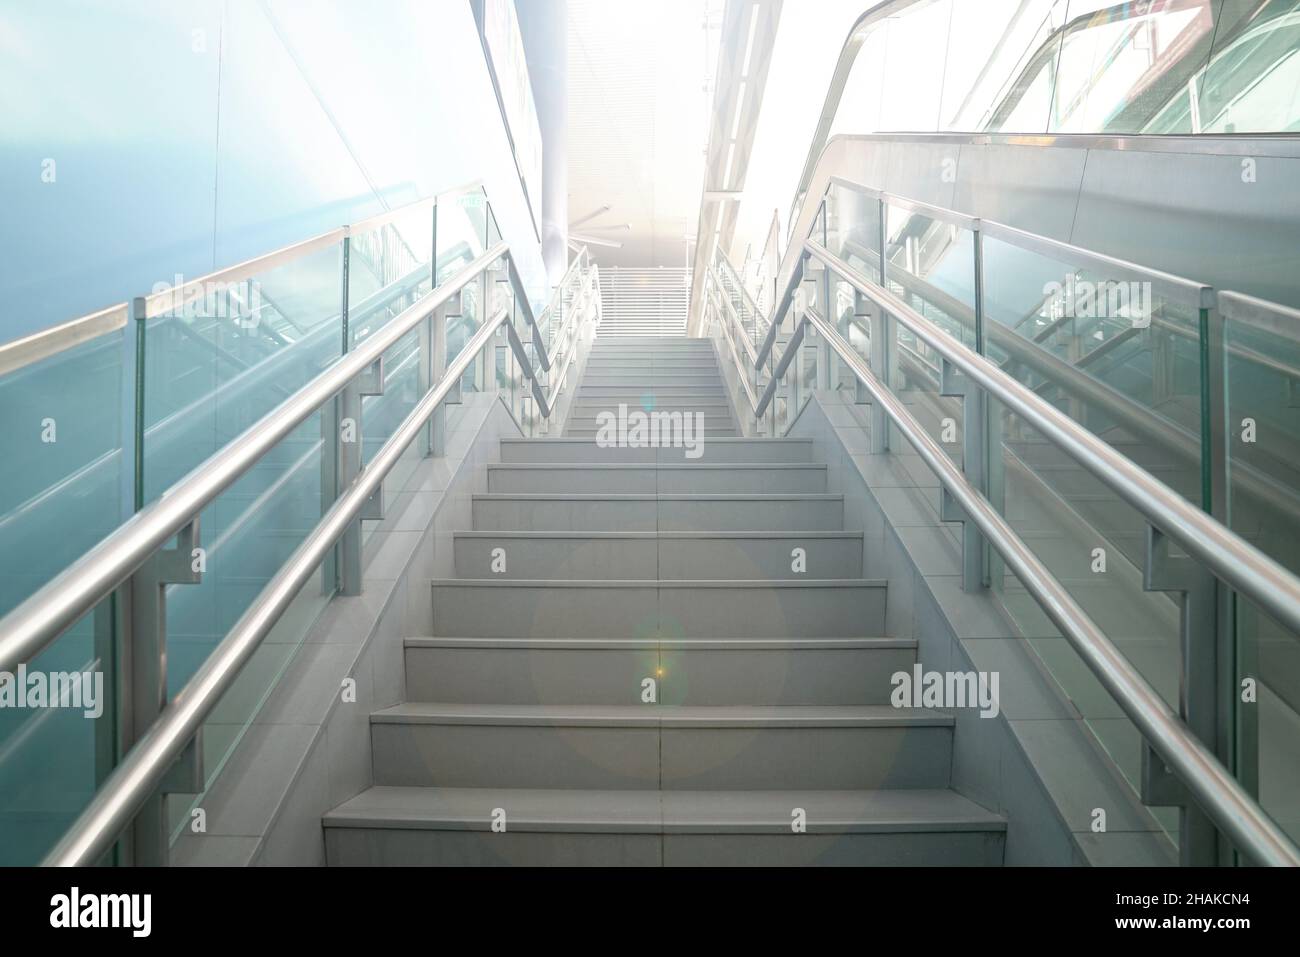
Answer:
[[[840,499],[473,501],[480,532],[835,532]]]

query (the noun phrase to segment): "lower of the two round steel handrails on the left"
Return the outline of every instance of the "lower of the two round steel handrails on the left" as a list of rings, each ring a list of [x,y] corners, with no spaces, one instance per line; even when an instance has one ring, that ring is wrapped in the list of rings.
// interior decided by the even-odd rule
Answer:
[[[494,250],[499,248],[499,246],[494,247]],[[422,315],[428,315],[434,307],[436,304],[430,306]],[[307,584],[343,532],[361,514],[384,478],[420,436],[434,410],[452,389],[459,386],[460,377],[491,342],[498,328],[507,319],[508,312],[500,309],[474,333],[456,359],[448,364],[447,373],[438,385],[416,403],[402,425],[325,512],[320,524],[312,529],[274,577],[266,583],[266,586],[239,616],[221,644],[208,655],[185,689],[162,709],[157,720],[150,726],[148,731],[140,736],[135,746],[104,780],[91,802],[46,857],[44,865],[88,866],[108,853],[118,833],[131,823],[135,813],[162,783],[168,770],[198,733],[204,719],[238,679],[243,666],[252,658],[261,640],[289,609],[294,597]],[[380,354],[382,355],[382,351]],[[308,389],[311,386],[303,391]],[[287,417],[287,412],[285,417]],[[254,428],[259,426],[261,423]],[[191,478],[186,478],[185,482],[194,480],[196,477],[191,473]]]

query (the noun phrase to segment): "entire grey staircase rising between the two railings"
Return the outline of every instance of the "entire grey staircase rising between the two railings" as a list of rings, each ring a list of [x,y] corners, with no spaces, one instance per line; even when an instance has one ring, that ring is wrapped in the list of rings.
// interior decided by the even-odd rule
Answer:
[[[619,403],[718,429],[597,443]],[[826,465],[737,436],[707,342],[597,342],[564,437],[502,442],[454,550],[332,865],[1001,863],[952,718],[889,705],[916,646]]]

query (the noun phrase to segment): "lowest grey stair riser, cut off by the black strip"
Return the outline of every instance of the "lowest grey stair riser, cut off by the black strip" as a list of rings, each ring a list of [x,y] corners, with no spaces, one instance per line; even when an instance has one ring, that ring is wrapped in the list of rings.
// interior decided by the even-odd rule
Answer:
[[[325,828],[332,867],[996,867],[1005,835],[573,833]]]

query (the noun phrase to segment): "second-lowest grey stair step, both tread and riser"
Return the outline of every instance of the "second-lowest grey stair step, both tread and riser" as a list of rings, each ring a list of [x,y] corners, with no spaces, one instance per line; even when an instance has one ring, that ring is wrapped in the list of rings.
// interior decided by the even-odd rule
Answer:
[[[376,784],[445,788],[946,788],[952,726],[880,705],[407,702],[370,715]]]

